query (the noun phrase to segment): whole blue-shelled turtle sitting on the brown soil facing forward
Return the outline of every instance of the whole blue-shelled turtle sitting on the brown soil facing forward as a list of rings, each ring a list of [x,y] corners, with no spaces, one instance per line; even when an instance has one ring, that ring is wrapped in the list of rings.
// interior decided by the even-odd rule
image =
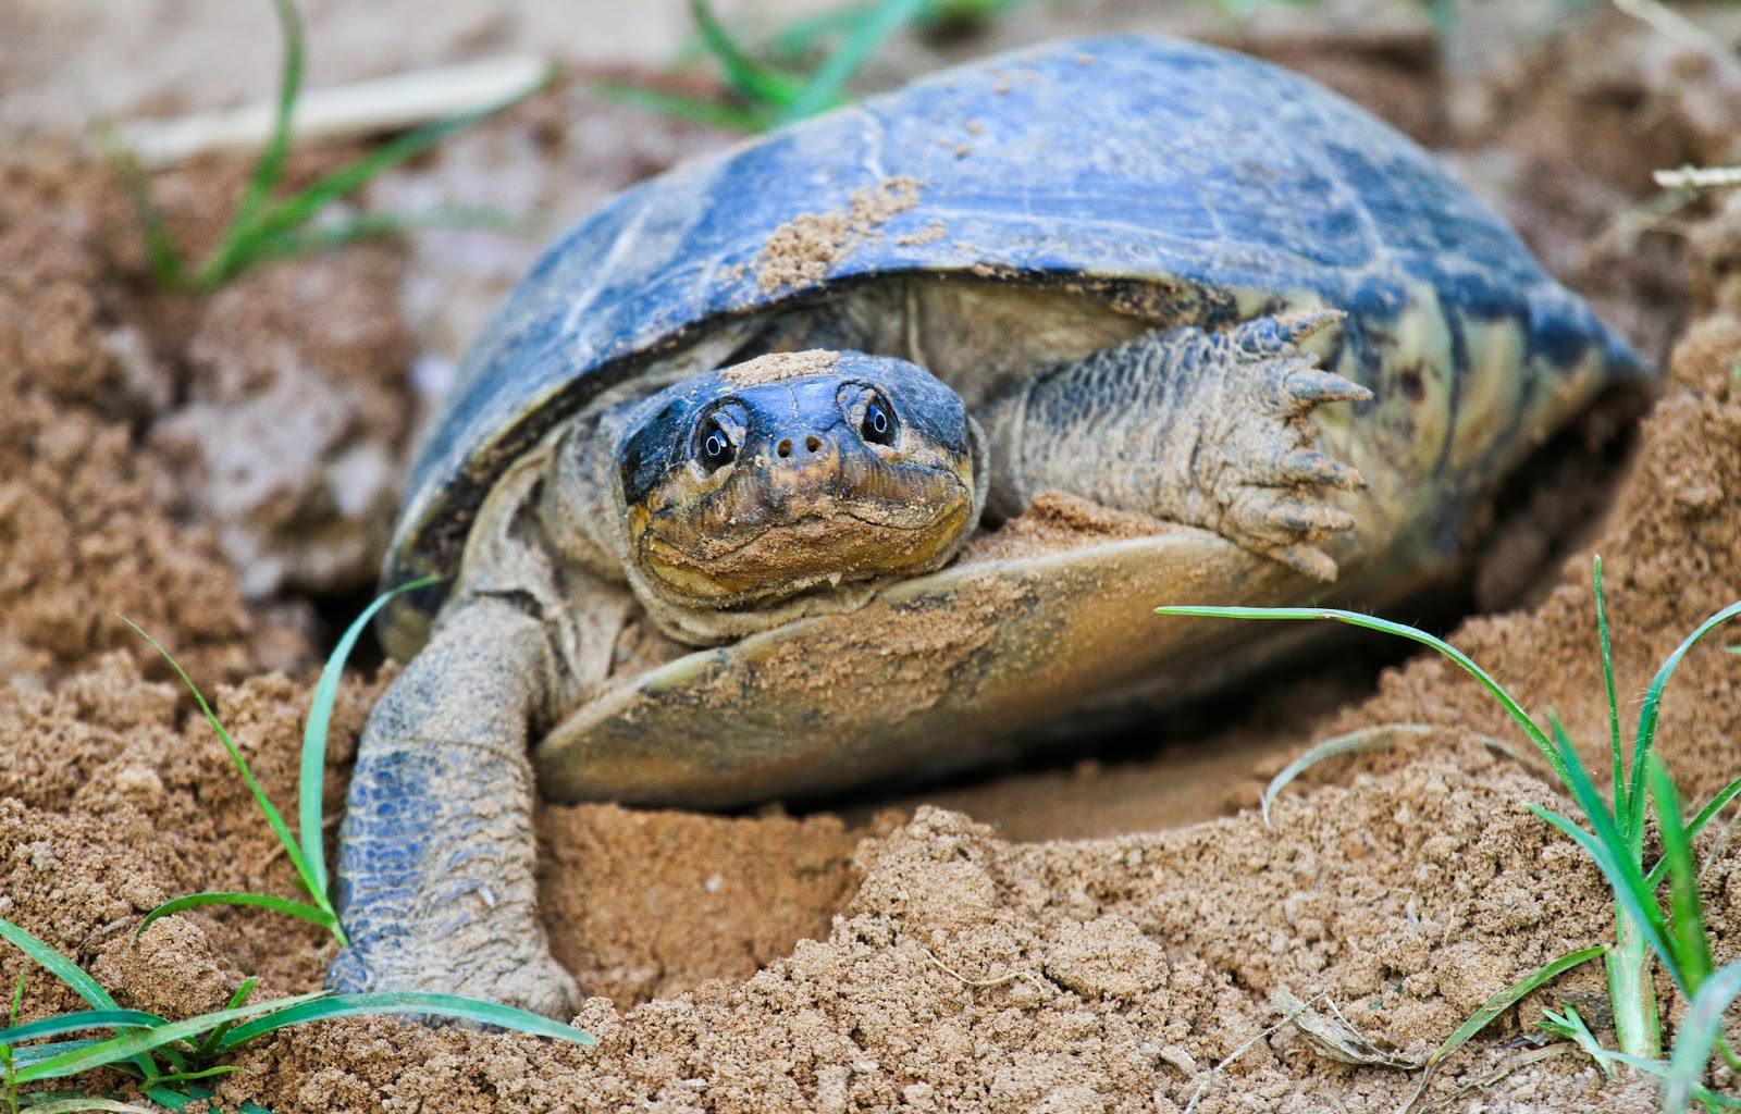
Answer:
[[[1194,42],[681,164],[548,247],[421,442],[329,985],[571,1015],[540,794],[733,808],[1165,708],[1280,651],[1153,606],[1431,592],[1654,378],[1414,141]]]

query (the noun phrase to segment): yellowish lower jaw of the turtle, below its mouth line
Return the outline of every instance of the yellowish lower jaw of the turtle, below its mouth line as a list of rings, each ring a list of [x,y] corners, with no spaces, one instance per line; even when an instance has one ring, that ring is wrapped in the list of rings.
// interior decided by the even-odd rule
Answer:
[[[963,493],[919,527],[832,513],[770,526],[747,538],[736,531],[724,538],[688,538],[676,522],[630,513],[630,540],[641,567],[658,587],[724,607],[776,601],[817,587],[928,573],[959,548],[971,513],[971,500]]]

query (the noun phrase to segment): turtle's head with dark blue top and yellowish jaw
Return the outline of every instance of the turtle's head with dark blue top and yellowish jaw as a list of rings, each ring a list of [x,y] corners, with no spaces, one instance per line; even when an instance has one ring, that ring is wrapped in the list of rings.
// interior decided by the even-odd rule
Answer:
[[[677,383],[616,442],[632,580],[724,611],[928,573],[978,519],[980,451],[905,360],[773,353]]]

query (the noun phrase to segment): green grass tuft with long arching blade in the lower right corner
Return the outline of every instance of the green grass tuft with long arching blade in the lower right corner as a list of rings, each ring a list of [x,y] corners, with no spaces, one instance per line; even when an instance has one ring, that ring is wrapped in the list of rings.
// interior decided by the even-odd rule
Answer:
[[[1610,761],[1607,797],[1596,790],[1590,768],[1579,757],[1558,715],[1549,710],[1544,717],[1546,728],[1543,728],[1492,674],[1457,648],[1431,634],[1370,614],[1330,607],[1182,606],[1158,607],[1156,611],[1175,616],[1236,620],[1332,620],[1429,646],[1482,682],[1489,695],[1511,715],[1543,759],[1546,759],[1560,780],[1560,787],[1572,797],[1579,820],[1537,804],[1529,804],[1527,808],[1576,842],[1602,872],[1603,881],[1614,893],[1614,940],[1569,952],[1496,994],[1433,1053],[1417,1098],[1424,1093],[1436,1064],[1485,1029],[1496,1017],[1509,1010],[1530,990],[1600,956],[1607,970],[1609,1003],[1614,1010],[1614,1034],[1619,1044],[1619,1050],[1609,1051],[1607,1058],[1596,1058],[1603,1065],[1603,1070],[1609,1065],[1621,1064],[1663,1076],[1664,1105],[1670,1111],[1680,1111],[1691,1100],[1708,1109],[1741,1109],[1741,1100],[1717,1095],[1699,1083],[1713,1050],[1720,1050],[1725,1058],[1736,1062],[1722,1041],[1720,1022],[1724,1008],[1741,994],[1741,964],[1731,964],[1720,971],[1713,970],[1704,905],[1699,898],[1697,862],[1692,849],[1692,841],[1697,834],[1717,818],[1724,806],[1741,794],[1741,778],[1725,785],[1697,813],[1687,818],[1682,811],[1680,794],[1666,766],[1654,754],[1663,691],[1670,677],[1699,641],[1717,627],[1741,614],[1741,602],[1734,602],[1706,618],[1663,660],[1645,689],[1638,712],[1638,726],[1628,754],[1621,738],[1600,557],[1593,564],[1593,594],[1596,639],[1602,651],[1603,689],[1609,708]],[[1360,748],[1358,743],[1358,740],[1330,740],[1330,743],[1323,743],[1307,752],[1307,755],[1302,755],[1302,759],[1309,757],[1311,761],[1295,761],[1283,775],[1288,778],[1297,776],[1313,761],[1356,750]],[[1652,818],[1663,851],[1647,869],[1645,829]],[[1657,896],[1664,882],[1668,882],[1666,902]],[[1661,964],[1675,982],[1675,987],[1692,1003],[1692,1010],[1680,1027],[1673,1058],[1668,1064],[1661,1060],[1663,1022],[1652,964]],[[1701,1003],[1704,1004],[1703,1013],[1699,1011]],[[1583,1046],[1584,1037],[1577,1036],[1583,1022],[1574,1022],[1565,1013],[1560,1018],[1562,1036],[1570,1034],[1567,1039],[1577,1041]],[[1588,1032],[1588,1027],[1584,1027],[1584,1032]]]

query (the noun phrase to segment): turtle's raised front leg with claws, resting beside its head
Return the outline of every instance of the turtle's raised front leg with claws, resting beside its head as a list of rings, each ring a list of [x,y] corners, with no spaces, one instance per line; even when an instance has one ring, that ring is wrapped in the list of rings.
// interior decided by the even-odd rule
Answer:
[[[1320,369],[1299,341],[1341,319],[1166,329],[1034,376],[978,416],[992,446],[989,508],[1010,517],[1041,491],[1067,491],[1335,580],[1323,543],[1354,519],[1327,493],[1363,480],[1318,447],[1307,416],[1372,392]]]

